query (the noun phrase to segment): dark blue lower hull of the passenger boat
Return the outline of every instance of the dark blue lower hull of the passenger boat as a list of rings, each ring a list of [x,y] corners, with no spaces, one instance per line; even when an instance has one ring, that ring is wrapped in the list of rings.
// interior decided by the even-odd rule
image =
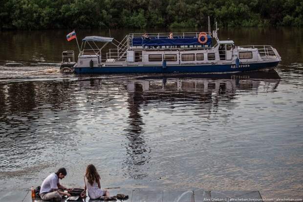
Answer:
[[[241,64],[240,67],[235,65],[201,65],[201,66],[135,66],[135,67],[75,67],[74,72],[77,74],[92,73],[215,73],[215,72],[233,72],[233,71],[254,71],[269,67],[276,67],[279,62],[271,63],[251,63]],[[247,67],[249,65],[249,67]],[[233,68],[234,67],[234,68]]]

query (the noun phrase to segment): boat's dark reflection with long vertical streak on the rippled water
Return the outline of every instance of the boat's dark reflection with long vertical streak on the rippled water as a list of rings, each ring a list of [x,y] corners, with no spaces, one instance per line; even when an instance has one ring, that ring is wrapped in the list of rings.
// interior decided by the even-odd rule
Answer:
[[[109,80],[113,84],[122,83],[127,90],[129,115],[128,126],[123,131],[127,138],[123,170],[126,176],[138,180],[148,176],[148,162],[151,159],[151,149],[146,143],[142,109],[164,106],[166,110],[174,108],[175,104],[192,105],[195,108],[193,105],[198,105],[198,114],[205,113],[205,117],[209,117],[216,113],[221,105],[237,106],[237,102],[230,100],[237,99],[235,95],[238,91],[275,90],[280,77],[275,70],[269,70],[236,74],[135,76]],[[105,80],[90,78],[81,79],[80,82],[82,84],[89,82],[90,86],[97,87],[102,85],[103,81]],[[260,89],[260,86],[263,88]],[[184,111],[183,108],[177,110]]]

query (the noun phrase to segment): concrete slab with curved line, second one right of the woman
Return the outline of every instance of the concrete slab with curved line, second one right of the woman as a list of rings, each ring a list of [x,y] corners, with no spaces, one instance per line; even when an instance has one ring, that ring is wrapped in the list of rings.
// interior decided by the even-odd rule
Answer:
[[[164,190],[163,202],[194,202],[194,192],[192,190]]]

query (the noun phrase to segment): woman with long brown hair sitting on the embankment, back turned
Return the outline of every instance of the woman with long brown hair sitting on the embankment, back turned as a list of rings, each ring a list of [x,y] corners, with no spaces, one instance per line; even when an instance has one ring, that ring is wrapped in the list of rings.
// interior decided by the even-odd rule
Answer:
[[[84,191],[81,197],[85,197],[86,190],[90,199],[99,199],[100,197],[109,197],[109,191],[101,189],[100,175],[93,164],[87,166],[86,174],[84,176]]]

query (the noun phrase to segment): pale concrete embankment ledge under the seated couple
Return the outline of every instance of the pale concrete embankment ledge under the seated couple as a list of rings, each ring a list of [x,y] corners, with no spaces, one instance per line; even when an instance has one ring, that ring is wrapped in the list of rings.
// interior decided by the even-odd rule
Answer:
[[[207,191],[203,189],[189,190],[150,190],[150,189],[112,189],[110,195],[129,195],[126,202],[261,202],[259,191]],[[66,201],[65,198],[62,201]],[[89,198],[79,201],[88,202]],[[93,200],[104,202],[103,200]],[[32,199],[30,191],[0,192],[0,202],[43,202]],[[121,202],[117,200],[117,202]]]

